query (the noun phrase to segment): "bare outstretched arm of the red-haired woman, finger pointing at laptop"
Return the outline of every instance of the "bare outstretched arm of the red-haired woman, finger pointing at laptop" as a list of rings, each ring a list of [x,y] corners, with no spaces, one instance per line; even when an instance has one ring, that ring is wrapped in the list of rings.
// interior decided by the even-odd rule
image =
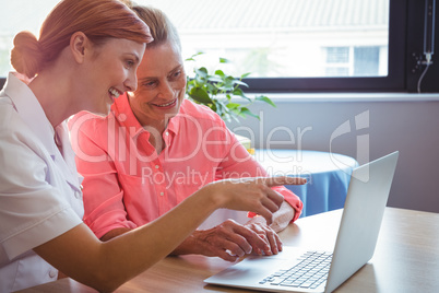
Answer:
[[[283,198],[270,187],[296,178],[210,184],[167,214],[108,242],[80,224],[34,250],[67,276],[99,291],[114,291],[173,251],[215,209],[250,210],[271,223]]]

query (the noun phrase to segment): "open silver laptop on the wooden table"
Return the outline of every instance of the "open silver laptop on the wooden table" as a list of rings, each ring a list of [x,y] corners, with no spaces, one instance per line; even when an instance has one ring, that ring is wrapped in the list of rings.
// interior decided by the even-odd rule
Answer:
[[[249,256],[204,281],[268,292],[332,292],[373,255],[399,152],[355,168],[333,251],[284,246]]]

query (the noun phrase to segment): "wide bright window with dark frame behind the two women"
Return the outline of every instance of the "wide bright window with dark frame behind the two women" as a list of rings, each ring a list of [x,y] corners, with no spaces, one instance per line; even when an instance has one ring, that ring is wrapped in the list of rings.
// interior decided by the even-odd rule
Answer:
[[[415,92],[425,66],[425,0],[137,0],[163,9],[179,30],[183,57],[251,72],[248,92]],[[37,32],[58,0],[1,4],[0,75],[21,30]],[[24,10],[23,10],[24,8]],[[17,13],[19,11],[20,14]],[[19,17],[17,15],[21,15]],[[436,38],[437,40],[438,38]],[[436,57],[434,55],[434,57]],[[435,58],[434,58],[435,59]],[[423,90],[439,92],[434,60]],[[191,73],[188,62],[187,71]]]

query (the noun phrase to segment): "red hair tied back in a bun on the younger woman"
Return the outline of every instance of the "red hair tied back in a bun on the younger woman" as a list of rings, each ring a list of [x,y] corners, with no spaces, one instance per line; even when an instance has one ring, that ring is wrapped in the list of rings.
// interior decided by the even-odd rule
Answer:
[[[35,77],[69,46],[75,32],[84,33],[96,45],[111,37],[152,40],[147,25],[119,0],[63,0],[46,17],[38,39],[29,32],[15,36],[12,66],[19,73]]]

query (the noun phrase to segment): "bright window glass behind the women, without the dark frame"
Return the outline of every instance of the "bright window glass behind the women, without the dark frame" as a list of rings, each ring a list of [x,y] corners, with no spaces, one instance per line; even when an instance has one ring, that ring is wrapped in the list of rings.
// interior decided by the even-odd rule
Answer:
[[[11,69],[13,36],[38,33],[58,0],[1,3],[0,75]],[[168,14],[183,57],[250,78],[388,75],[389,0],[137,0]],[[187,63],[188,73],[193,62]]]

